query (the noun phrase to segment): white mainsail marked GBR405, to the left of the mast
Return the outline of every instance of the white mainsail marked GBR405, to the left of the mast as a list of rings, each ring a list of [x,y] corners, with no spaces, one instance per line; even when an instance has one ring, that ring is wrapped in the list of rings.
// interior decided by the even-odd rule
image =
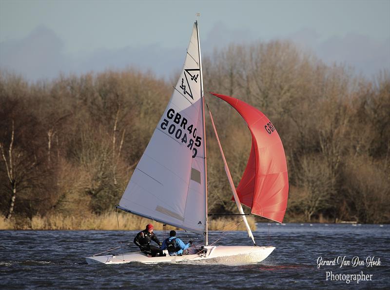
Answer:
[[[196,25],[195,22],[184,67],[171,100],[118,208],[203,233],[207,218],[206,181]]]

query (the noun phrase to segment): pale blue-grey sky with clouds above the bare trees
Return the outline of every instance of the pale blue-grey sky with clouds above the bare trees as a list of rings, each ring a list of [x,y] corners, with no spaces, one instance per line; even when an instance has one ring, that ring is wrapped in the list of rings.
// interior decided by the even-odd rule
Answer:
[[[367,77],[390,70],[390,0],[0,0],[0,69],[31,81],[128,66],[169,78],[196,12],[203,55],[289,39]]]

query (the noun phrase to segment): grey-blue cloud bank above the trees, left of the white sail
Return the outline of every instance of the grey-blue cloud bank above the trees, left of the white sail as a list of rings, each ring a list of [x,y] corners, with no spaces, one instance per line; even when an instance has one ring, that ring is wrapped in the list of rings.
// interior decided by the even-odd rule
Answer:
[[[0,43],[0,69],[22,75],[29,81],[54,79],[62,72],[86,73],[129,66],[151,70],[158,77],[172,76],[182,67],[186,48],[162,48],[155,43],[144,47],[98,49],[87,56],[70,56],[54,31],[39,26],[26,38]]]

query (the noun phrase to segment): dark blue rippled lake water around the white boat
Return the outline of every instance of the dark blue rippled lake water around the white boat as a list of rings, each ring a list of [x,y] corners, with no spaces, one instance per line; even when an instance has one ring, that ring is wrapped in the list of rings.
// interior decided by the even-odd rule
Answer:
[[[118,247],[119,241],[132,241],[137,232],[0,231],[0,289],[386,289],[390,285],[389,229],[389,225],[258,224],[256,243],[276,249],[263,262],[244,266],[88,265],[85,256]],[[162,240],[162,232],[156,234]],[[196,241],[195,235],[187,237],[184,231],[177,231],[177,236]],[[209,243],[219,238],[216,245],[251,245],[242,231],[211,232]],[[345,256],[350,265],[340,268],[336,261],[318,269],[320,256],[329,261]],[[365,265],[352,267],[354,256]],[[380,265],[367,267],[367,257],[374,257],[376,263],[379,258]],[[326,280],[327,272],[333,280],[330,274]],[[357,284],[353,277],[362,272],[371,275],[371,280]],[[335,281],[337,277],[344,281]]]

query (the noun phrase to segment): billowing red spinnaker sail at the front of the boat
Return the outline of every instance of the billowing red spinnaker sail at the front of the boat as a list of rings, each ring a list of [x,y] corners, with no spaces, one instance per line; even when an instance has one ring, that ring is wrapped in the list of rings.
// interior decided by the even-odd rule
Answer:
[[[270,120],[253,106],[233,97],[211,93],[229,103],[248,124],[252,148],[237,186],[240,202],[251,213],[281,223],[287,207],[289,178],[282,141]]]

